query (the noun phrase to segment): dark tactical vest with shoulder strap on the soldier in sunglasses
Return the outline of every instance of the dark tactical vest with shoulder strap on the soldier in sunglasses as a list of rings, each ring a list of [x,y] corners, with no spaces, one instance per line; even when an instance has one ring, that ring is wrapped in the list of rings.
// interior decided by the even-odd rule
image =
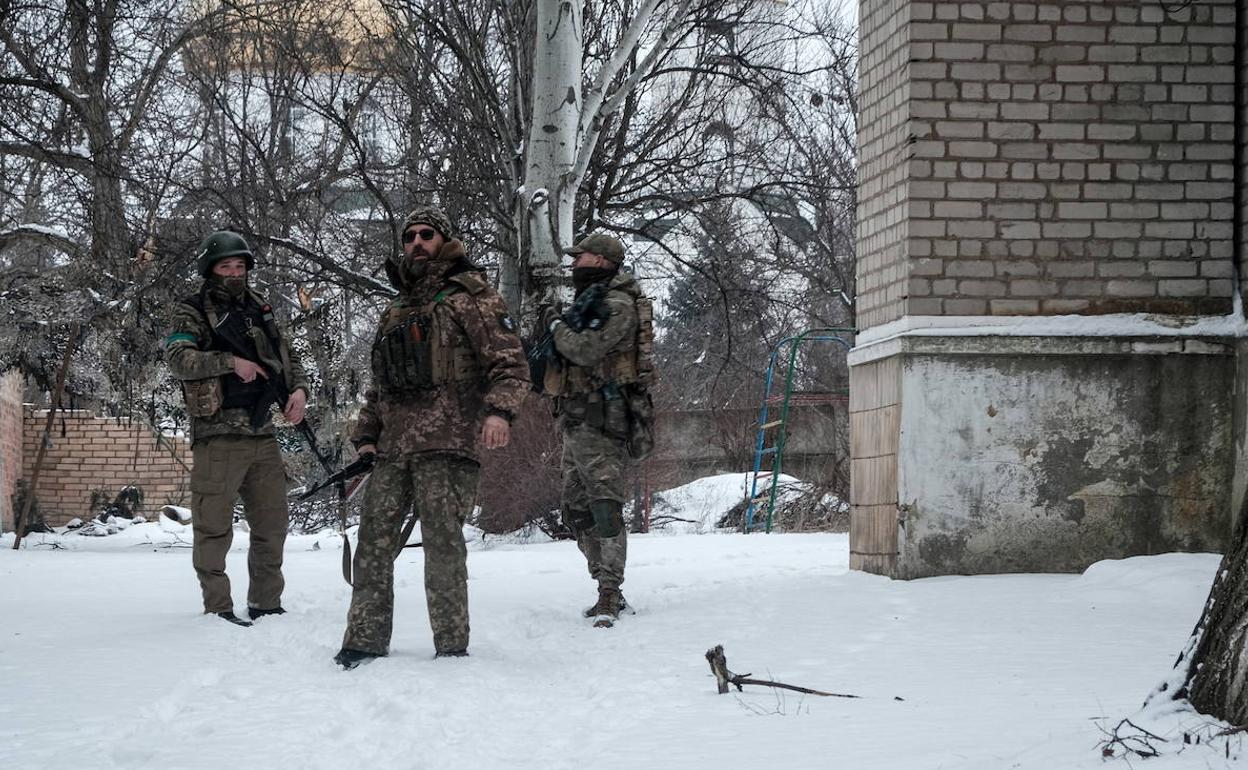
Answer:
[[[456,285],[439,291],[432,302],[419,307],[392,306],[387,311],[372,349],[373,383],[382,396],[412,398],[452,382],[482,378],[470,347],[447,344],[448,324],[454,322],[437,308],[461,290],[477,293],[487,283],[475,273],[458,273],[453,281]]]

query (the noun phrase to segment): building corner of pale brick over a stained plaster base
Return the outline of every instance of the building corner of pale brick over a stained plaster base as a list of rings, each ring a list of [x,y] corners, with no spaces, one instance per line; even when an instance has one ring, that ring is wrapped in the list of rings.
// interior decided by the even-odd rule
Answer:
[[[864,0],[860,19],[851,564],[1219,548],[1234,0]]]

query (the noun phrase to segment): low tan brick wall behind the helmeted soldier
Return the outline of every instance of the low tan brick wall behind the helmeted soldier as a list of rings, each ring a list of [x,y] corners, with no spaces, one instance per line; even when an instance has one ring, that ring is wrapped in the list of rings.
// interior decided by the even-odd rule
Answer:
[[[22,454],[30,478],[46,409],[26,408]],[[146,424],[124,418],[95,417],[85,411],[61,412],[44,456],[36,494],[50,524],[64,524],[90,513],[91,492],[111,499],[127,484],[144,490],[144,510],[165,504],[188,504],[191,447],[185,438],[157,436]]]

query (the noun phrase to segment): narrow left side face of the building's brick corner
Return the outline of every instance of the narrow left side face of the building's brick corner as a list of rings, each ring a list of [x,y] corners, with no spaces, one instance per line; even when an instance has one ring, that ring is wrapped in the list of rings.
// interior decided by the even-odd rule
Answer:
[[[900,318],[906,290],[907,0],[861,4],[857,324]]]

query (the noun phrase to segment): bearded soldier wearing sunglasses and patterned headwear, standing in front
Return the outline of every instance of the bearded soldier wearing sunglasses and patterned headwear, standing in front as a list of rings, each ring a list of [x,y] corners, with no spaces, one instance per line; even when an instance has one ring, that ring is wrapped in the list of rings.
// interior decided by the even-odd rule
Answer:
[[[529,388],[515,323],[484,271],[468,261],[451,221],[422,206],[403,223],[403,253],[386,272],[399,297],[382,313],[372,387],[351,441],[376,453],[354,559],[344,669],[389,651],[394,558],[408,508],[421,519],[424,598],[436,658],[468,654],[468,550],[485,449],[505,447]]]

